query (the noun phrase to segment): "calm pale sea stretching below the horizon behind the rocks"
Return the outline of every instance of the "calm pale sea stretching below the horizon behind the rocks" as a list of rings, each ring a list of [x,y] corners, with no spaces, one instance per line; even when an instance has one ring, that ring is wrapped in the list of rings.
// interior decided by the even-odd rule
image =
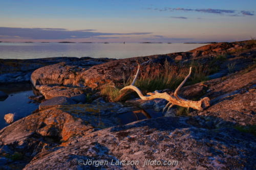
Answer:
[[[130,58],[186,52],[205,44],[183,43],[0,43],[2,59],[46,57]]]

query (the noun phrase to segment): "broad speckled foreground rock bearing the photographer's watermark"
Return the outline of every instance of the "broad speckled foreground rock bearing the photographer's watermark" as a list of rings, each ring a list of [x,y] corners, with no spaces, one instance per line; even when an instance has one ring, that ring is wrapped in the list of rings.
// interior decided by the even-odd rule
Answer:
[[[42,154],[24,169],[256,168],[254,136],[229,128],[195,128],[186,124],[188,119],[147,119],[93,132],[66,148]],[[86,164],[90,159],[108,163],[96,167]],[[144,165],[147,160],[156,160],[160,165],[154,162]],[[126,165],[120,164],[120,161],[137,162],[134,165]],[[164,161],[170,161],[171,165],[162,165]],[[83,162],[84,165],[81,164]]]

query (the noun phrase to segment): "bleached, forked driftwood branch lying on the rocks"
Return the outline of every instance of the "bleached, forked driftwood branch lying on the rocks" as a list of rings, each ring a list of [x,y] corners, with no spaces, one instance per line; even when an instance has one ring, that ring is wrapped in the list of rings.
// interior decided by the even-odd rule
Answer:
[[[139,75],[139,71],[140,71],[140,65],[138,66],[138,70],[137,70],[137,73],[136,73],[136,76],[133,80],[133,83],[129,86],[125,86],[124,88],[122,88],[120,91],[123,91],[123,90],[127,90],[127,89],[132,89],[134,91],[136,91],[140,98],[142,100],[153,100],[153,99],[165,99],[167,101],[169,101],[169,103],[167,103],[167,105],[163,108],[163,111],[168,107],[168,110],[173,107],[174,105],[178,105],[178,106],[182,106],[182,107],[186,107],[186,108],[193,108],[193,109],[196,109],[196,110],[200,110],[200,111],[203,111],[204,108],[206,108],[207,106],[209,106],[209,102],[210,102],[210,99],[209,98],[203,98],[201,99],[200,101],[190,101],[190,100],[186,100],[186,99],[183,99],[181,98],[179,95],[178,95],[178,92],[179,90],[181,89],[181,87],[184,85],[184,83],[186,82],[186,80],[189,78],[189,76],[191,75],[191,71],[192,71],[192,67],[190,67],[189,69],[189,74],[187,75],[187,77],[183,80],[183,82],[179,85],[179,87],[175,90],[174,94],[173,95],[169,95],[168,93],[166,92],[163,92],[163,93],[159,93],[157,91],[155,92],[150,92],[150,93],[147,93],[148,96],[144,96],[142,94],[142,92],[136,87],[134,86],[135,82],[136,82],[136,79],[138,78],[138,75]]]

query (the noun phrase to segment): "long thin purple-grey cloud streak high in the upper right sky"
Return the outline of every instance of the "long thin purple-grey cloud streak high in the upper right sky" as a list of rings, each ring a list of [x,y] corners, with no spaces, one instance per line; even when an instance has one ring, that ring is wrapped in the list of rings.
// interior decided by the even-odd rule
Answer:
[[[146,8],[147,10],[156,10],[156,11],[194,11],[194,12],[201,12],[201,13],[211,13],[211,14],[229,14],[228,16],[240,16],[239,13],[243,15],[254,15],[254,11],[237,11],[237,10],[224,10],[224,9],[187,9],[187,8]],[[230,15],[233,14],[233,15]],[[183,18],[185,19],[185,18]]]

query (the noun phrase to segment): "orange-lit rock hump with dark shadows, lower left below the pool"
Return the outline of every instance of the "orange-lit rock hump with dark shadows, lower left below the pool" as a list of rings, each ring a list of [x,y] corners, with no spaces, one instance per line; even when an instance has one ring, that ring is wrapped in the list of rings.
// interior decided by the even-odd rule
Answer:
[[[59,144],[65,146],[75,143],[76,138],[90,135],[93,131],[120,125],[116,115],[137,109],[115,103],[66,105],[19,119],[0,130],[1,168],[22,169],[41,152],[54,152],[61,148],[57,147]],[[19,155],[19,160],[12,159],[17,157],[15,153]]]

